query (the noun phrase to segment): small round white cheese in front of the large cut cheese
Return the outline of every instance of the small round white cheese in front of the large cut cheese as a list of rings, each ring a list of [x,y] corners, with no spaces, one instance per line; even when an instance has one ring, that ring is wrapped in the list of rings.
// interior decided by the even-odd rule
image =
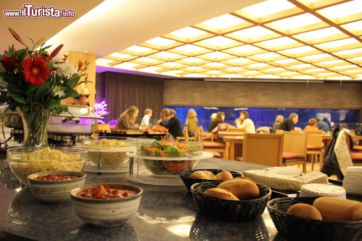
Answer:
[[[300,197],[337,197],[345,199],[346,190],[343,187],[330,184],[305,184],[301,188]]]

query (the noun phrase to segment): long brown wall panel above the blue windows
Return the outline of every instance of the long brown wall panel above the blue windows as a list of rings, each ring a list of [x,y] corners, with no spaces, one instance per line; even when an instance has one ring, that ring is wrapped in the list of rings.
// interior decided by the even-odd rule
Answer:
[[[251,83],[164,80],[164,105],[362,108],[362,83]]]

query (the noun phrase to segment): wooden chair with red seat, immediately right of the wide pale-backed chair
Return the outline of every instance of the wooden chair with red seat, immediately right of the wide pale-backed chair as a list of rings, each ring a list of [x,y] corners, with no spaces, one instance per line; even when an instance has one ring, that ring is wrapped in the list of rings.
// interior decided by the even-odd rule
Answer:
[[[300,132],[284,132],[283,165],[303,165],[307,171],[307,134]]]

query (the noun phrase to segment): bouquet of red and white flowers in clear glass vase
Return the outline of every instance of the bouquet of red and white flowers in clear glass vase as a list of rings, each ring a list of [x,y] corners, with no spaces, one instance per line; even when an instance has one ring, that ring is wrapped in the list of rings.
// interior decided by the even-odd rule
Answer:
[[[52,113],[68,112],[61,100],[77,97],[74,88],[87,83],[88,63],[79,61],[78,68],[67,63],[67,55],[56,57],[63,47],[59,45],[49,55],[44,38],[34,42],[32,47],[25,44],[22,38],[12,29],[10,33],[25,46],[16,50],[14,45],[9,51],[0,54],[0,103],[9,110],[20,109],[24,124],[24,147],[48,146],[47,127]],[[79,81],[84,76],[83,81]]]

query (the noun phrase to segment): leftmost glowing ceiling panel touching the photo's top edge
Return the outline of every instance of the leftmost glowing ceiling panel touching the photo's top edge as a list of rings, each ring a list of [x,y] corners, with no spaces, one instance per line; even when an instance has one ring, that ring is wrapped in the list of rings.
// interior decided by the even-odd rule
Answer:
[[[264,17],[270,14],[282,12],[296,7],[286,0],[267,0],[259,4],[254,4],[242,10],[256,17]]]

